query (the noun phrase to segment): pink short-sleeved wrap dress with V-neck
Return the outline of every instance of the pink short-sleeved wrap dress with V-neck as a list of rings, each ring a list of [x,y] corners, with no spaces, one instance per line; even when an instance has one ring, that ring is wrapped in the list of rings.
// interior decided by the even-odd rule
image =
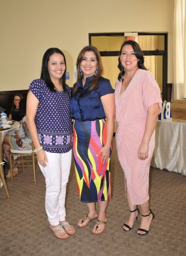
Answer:
[[[128,84],[125,92],[120,95],[121,82],[116,81],[116,147],[118,157],[125,173],[125,188],[134,205],[149,200],[150,161],[155,146],[155,131],[149,143],[148,158],[141,160],[137,152],[144,135],[148,108],[162,99],[160,88],[151,72],[139,69]]]

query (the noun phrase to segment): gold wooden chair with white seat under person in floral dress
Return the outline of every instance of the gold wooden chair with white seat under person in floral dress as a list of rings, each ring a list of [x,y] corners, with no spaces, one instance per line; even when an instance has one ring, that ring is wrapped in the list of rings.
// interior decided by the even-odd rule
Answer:
[[[24,168],[26,167],[33,167],[33,176],[34,182],[36,182],[36,153],[31,143],[32,149],[31,150],[14,150],[10,149],[10,172],[11,172],[11,179],[13,180],[13,168],[14,167],[21,167],[22,172],[24,172]],[[19,157],[19,159],[17,159]]]

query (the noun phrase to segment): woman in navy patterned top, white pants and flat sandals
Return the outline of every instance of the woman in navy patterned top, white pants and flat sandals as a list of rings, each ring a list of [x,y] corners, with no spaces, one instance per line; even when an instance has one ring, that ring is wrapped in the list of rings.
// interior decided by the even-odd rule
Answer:
[[[66,184],[72,159],[71,91],[66,84],[65,55],[50,48],[43,55],[40,79],[29,86],[27,125],[45,177],[49,227],[59,239],[75,233],[66,221]]]

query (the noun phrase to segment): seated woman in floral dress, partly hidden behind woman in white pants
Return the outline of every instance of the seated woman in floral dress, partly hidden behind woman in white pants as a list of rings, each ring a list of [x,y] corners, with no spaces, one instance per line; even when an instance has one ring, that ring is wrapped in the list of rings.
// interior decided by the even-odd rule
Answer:
[[[15,150],[30,150],[31,138],[26,124],[26,99],[20,100],[19,111],[21,116],[21,123],[19,130],[14,131],[14,135],[6,135],[3,141],[3,153],[6,156],[8,164],[10,166],[10,148]],[[13,176],[17,175],[18,168],[13,168]],[[6,178],[11,178],[10,170],[6,175]]]

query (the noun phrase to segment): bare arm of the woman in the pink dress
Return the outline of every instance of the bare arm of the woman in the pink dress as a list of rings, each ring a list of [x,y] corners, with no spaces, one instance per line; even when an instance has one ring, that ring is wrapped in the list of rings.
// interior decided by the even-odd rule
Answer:
[[[137,156],[141,160],[148,158],[149,141],[155,130],[157,124],[157,117],[159,115],[159,103],[155,103],[148,108],[148,115],[146,118],[146,125],[144,129],[143,139],[139,146]]]

